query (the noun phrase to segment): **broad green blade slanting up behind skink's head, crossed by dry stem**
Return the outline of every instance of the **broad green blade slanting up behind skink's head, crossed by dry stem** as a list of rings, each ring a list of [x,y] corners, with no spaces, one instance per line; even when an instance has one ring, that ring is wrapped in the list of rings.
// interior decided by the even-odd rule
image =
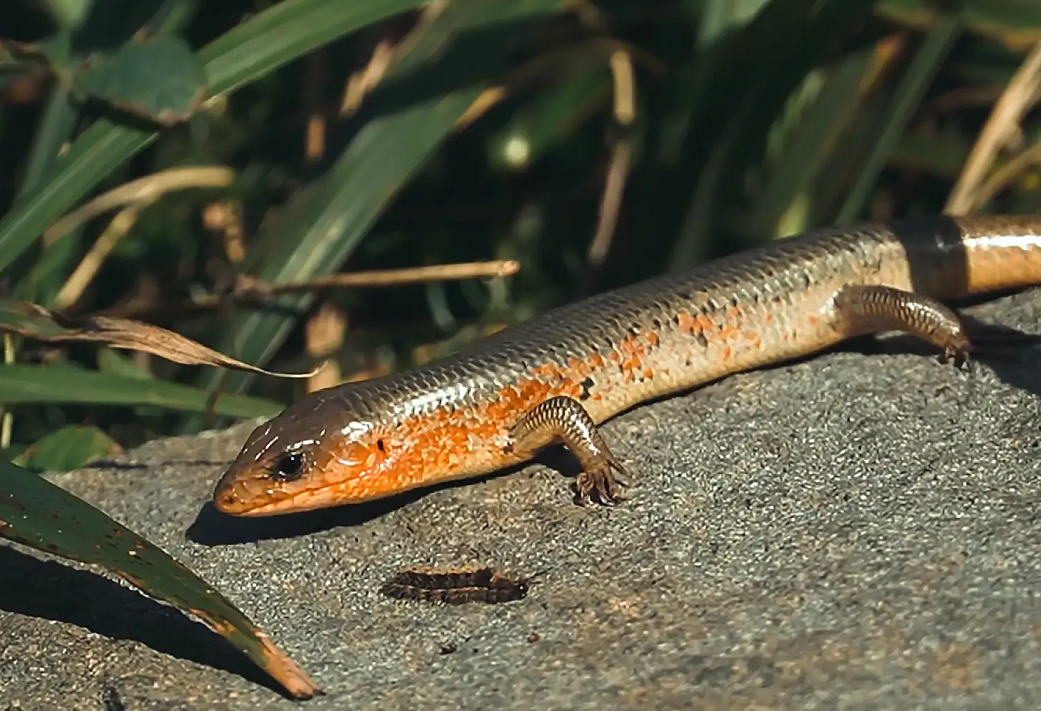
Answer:
[[[421,31],[403,50],[385,82],[439,53],[457,33],[477,31],[507,20],[523,19],[560,9],[564,0],[500,0],[457,2]],[[492,52],[494,47],[484,48]],[[475,57],[488,62],[488,55]],[[268,235],[277,237],[272,254],[252,271],[269,281],[308,279],[339,269],[397,193],[434,155],[453,131],[456,121],[481,92],[471,86],[428,99],[366,124],[338,158],[331,171],[294,205],[293,217],[279,220]],[[258,240],[264,239],[261,236]],[[279,300],[282,309],[304,309],[313,303],[309,294]],[[278,314],[252,312],[236,319],[214,348],[252,362],[268,362],[293,328],[294,320]],[[212,387],[214,373],[202,376],[201,384]],[[221,376],[221,386],[242,391],[252,381],[240,374]],[[188,422],[182,431],[192,431]]]

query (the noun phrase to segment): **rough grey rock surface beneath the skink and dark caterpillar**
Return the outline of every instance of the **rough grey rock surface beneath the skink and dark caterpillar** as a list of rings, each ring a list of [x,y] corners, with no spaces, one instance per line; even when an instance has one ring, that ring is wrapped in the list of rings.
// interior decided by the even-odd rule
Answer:
[[[1041,290],[971,312],[1041,331]],[[201,625],[0,544],[0,708],[1038,708],[1041,349],[973,376],[929,354],[887,339],[625,414],[614,509],[535,465],[225,518],[204,504],[249,425],[52,475],[225,591],[327,695],[286,701]],[[378,593],[427,563],[545,573],[498,606]]]

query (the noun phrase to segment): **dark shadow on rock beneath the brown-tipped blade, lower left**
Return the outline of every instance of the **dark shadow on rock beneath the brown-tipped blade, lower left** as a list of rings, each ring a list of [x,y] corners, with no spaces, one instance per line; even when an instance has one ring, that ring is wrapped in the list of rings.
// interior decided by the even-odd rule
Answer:
[[[6,547],[0,547],[0,610],[141,642],[161,654],[229,671],[284,693],[224,637],[107,578]]]

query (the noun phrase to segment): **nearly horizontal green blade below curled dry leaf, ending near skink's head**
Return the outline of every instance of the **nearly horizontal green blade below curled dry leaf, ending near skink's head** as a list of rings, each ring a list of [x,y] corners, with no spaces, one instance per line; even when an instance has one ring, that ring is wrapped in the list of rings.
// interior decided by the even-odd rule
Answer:
[[[97,373],[68,365],[0,365],[0,403],[83,405],[154,405],[171,410],[206,412],[210,395],[199,388],[161,380]],[[222,395],[213,412],[228,417],[259,417],[281,409],[279,403]]]

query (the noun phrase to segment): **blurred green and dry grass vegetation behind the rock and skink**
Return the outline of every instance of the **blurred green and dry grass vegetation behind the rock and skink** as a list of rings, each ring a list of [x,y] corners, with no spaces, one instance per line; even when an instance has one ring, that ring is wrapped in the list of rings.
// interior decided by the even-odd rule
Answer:
[[[1041,195],[1034,0],[5,0],[0,40],[5,303],[325,365],[8,333],[0,448],[32,467],[808,228]]]

